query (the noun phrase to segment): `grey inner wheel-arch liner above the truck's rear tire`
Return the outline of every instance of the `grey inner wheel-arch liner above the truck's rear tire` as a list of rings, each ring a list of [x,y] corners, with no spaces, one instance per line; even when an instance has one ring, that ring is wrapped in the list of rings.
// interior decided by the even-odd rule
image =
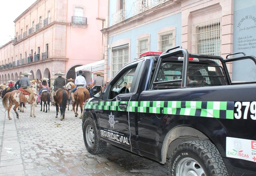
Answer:
[[[162,150],[161,150],[160,163],[162,164],[166,163],[167,152],[170,144],[181,136],[190,136],[190,138],[196,137],[196,138],[208,139],[206,135],[204,135],[202,132],[198,131],[195,128],[192,128],[189,126],[178,126],[170,130],[164,138]]]

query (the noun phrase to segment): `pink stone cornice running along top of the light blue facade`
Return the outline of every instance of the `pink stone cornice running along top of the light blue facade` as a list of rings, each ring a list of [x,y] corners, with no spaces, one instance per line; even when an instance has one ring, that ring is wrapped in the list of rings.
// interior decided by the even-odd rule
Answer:
[[[152,14],[155,14],[157,11],[163,11],[166,10],[167,8],[173,8],[173,5],[179,4],[180,0],[170,0],[167,1],[160,6],[155,6],[147,11],[144,11],[138,15],[132,16],[131,18],[125,19],[119,23],[116,23],[110,27],[104,28],[101,30],[103,34],[108,33],[109,31],[118,29],[120,31],[120,28],[126,28],[130,23],[134,23],[135,21],[142,21],[141,19],[145,18],[146,16],[151,16]]]

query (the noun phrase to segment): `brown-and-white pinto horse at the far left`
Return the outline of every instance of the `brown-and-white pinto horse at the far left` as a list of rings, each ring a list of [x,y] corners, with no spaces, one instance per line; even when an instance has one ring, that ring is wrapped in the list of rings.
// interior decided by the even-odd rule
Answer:
[[[32,104],[30,105],[30,117],[32,117],[32,114],[34,117],[35,115],[35,105],[36,105],[36,100],[37,100],[37,85],[40,84],[38,80],[34,80],[32,84],[29,86],[29,88],[34,92],[33,99],[32,99]],[[10,117],[10,110],[15,104],[13,110],[16,113],[16,118],[19,119],[19,114],[16,111],[17,107],[20,105],[20,103],[25,103],[27,102],[29,95],[25,95],[21,90],[13,90],[11,92],[8,92],[5,94],[3,98],[3,106],[5,110],[8,110],[8,119],[12,120]],[[33,113],[32,113],[33,112]]]

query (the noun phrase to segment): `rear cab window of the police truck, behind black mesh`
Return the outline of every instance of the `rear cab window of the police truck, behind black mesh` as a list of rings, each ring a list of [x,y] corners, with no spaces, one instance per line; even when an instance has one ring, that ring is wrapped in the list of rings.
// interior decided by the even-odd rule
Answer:
[[[157,82],[182,79],[183,63],[162,63]],[[154,71],[154,68],[153,68]],[[152,71],[152,72],[153,72]],[[188,87],[226,85],[223,69],[219,65],[189,64]],[[155,85],[154,89],[180,88],[181,82]]]

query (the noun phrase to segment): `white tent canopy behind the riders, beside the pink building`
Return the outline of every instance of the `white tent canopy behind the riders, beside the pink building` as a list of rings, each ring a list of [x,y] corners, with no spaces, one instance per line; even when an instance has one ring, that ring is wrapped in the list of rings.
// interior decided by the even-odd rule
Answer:
[[[79,67],[75,67],[75,72],[78,72],[79,70],[88,71],[88,72],[102,71],[104,70],[104,60],[89,63]]]

